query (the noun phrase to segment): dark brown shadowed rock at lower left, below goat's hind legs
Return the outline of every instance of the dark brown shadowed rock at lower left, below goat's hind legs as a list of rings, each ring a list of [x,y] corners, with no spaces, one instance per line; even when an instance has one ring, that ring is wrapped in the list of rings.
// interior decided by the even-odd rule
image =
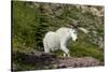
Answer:
[[[13,60],[21,64],[39,64],[46,66],[55,61],[56,55],[51,53],[36,52],[36,53],[21,53],[13,54]]]

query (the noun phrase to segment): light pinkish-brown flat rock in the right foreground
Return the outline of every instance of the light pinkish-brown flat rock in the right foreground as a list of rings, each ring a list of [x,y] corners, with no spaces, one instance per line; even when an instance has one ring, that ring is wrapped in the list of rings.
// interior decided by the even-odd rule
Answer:
[[[102,66],[102,62],[92,57],[82,58],[68,58],[62,59],[58,62],[58,68],[82,68],[82,67],[94,67]]]

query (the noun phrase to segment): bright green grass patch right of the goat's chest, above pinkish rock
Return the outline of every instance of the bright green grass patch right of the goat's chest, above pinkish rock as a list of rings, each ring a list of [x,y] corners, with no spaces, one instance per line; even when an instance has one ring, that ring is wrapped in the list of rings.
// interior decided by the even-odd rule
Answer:
[[[104,51],[96,45],[79,41],[77,43],[70,42],[69,48],[72,57],[94,57],[104,61]]]

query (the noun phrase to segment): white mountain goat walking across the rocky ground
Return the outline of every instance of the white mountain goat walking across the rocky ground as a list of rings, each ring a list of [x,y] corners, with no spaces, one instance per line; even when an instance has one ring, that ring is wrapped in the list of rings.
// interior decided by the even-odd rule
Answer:
[[[82,31],[84,30],[83,28],[80,29]],[[69,57],[67,44],[70,39],[72,39],[72,41],[77,41],[78,39],[77,28],[73,26],[71,28],[62,27],[55,32],[49,31],[43,39],[44,52],[50,53],[50,51],[62,49],[65,52],[64,56]]]

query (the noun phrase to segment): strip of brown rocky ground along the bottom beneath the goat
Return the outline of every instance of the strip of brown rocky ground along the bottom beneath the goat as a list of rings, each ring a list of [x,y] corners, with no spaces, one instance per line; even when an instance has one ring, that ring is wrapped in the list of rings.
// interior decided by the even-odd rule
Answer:
[[[43,52],[37,53],[19,53],[18,56],[13,57],[14,61],[13,70],[19,70],[16,67],[16,63],[25,64],[25,66],[33,66],[33,70],[42,70],[42,69],[62,69],[62,68],[83,68],[83,67],[97,67],[104,66],[104,62],[98,61],[92,57],[57,57],[54,54],[46,54]],[[14,54],[15,55],[15,54]],[[21,56],[19,56],[21,55]],[[32,70],[32,69],[26,69]]]

